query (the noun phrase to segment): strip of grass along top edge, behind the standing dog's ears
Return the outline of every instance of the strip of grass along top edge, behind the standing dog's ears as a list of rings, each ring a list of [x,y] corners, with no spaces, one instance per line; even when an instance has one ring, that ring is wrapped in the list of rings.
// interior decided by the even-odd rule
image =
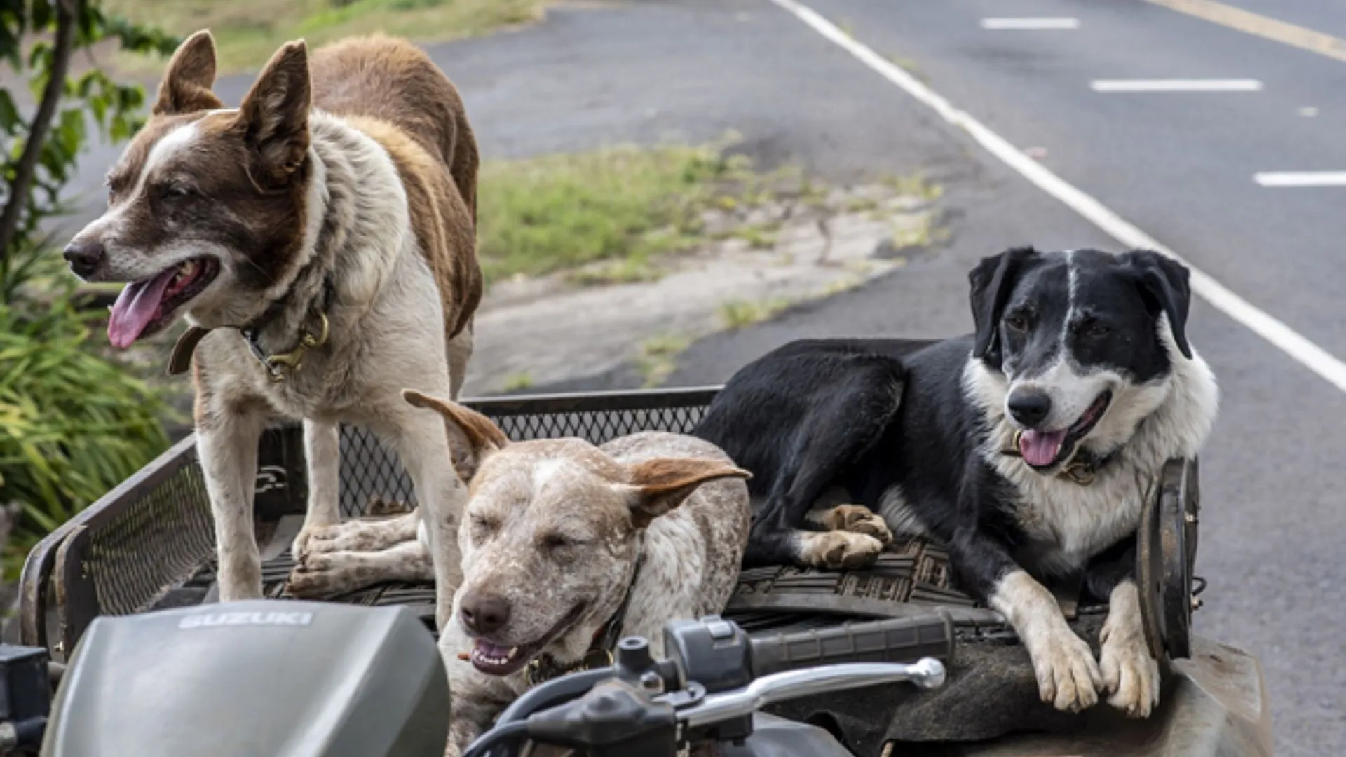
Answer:
[[[209,28],[221,73],[261,69],[277,47],[304,38],[316,47],[380,30],[420,42],[455,39],[541,16],[541,0],[104,0],[108,13],[151,22],[178,35]],[[118,55],[127,71],[160,71],[163,61]]]

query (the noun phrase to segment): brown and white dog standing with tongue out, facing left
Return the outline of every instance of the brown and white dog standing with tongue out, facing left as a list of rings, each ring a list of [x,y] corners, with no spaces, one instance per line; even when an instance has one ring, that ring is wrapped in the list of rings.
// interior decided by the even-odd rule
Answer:
[[[412,385],[456,396],[482,295],[478,152],[462,98],[408,42],[373,36],[310,55],[283,46],[238,108],[211,92],[215,46],[190,36],[145,127],[108,174],[108,210],[65,251],[89,282],[128,282],[108,337],[127,348],[179,314],[195,354],[197,434],[222,601],[261,594],[252,523],[257,442],[302,419],[308,512],[295,541],[339,520],[339,423],[373,430],[408,469],[447,609],[463,484],[444,424]],[[416,529],[416,515],[394,524]]]

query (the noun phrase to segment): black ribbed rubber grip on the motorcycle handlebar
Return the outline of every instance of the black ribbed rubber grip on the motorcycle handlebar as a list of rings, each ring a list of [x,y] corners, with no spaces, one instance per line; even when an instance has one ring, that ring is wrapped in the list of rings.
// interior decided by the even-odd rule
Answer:
[[[833,628],[754,636],[752,676],[832,663],[914,663],[953,657],[953,620],[938,614],[848,622]]]

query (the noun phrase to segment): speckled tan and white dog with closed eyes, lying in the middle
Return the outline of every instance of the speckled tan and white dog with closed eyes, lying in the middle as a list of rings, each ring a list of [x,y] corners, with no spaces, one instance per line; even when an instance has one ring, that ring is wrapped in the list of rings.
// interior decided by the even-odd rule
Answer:
[[[440,626],[452,696],[447,754],[471,744],[530,679],[607,664],[623,636],[649,638],[658,657],[665,622],[724,609],[751,505],[748,473],[719,447],[662,431],[598,447],[575,438],[511,443],[468,408],[404,395],[443,415],[452,465],[470,482],[458,532],[463,583]],[[334,590],[428,578],[421,541],[380,543],[366,527],[342,524],[362,539],[350,541],[359,551],[312,554],[296,578],[320,577]]]

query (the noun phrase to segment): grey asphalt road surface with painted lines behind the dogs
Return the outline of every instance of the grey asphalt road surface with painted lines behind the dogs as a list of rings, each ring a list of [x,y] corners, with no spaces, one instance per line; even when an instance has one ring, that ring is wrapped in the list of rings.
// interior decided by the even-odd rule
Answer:
[[[1346,8],[1242,0],[1346,36]],[[1337,7],[1333,7],[1337,5]],[[957,0],[812,7],[1257,307],[1346,356],[1346,189],[1268,189],[1259,171],[1346,170],[1346,62],[1140,0]],[[1070,31],[988,31],[984,16],[1070,16]],[[545,24],[432,48],[487,156],[736,129],[767,164],[833,182],[923,168],[952,240],[863,290],[695,343],[669,384],[708,384],[804,335],[944,335],[970,327],[966,271],[1015,244],[1117,244],[925,106],[767,0],[559,7]],[[1248,93],[1098,93],[1092,79],[1256,78]],[[246,78],[221,82],[237,101]],[[1304,108],[1314,108],[1306,116]],[[90,155],[82,186],[116,151]],[[1277,754],[1346,744],[1346,508],[1334,478],[1346,396],[1205,302],[1189,333],[1222,385],[1202,461],[1197,630],[1249,649]],[[634,385],[576,366],[565,389]],[[468,392],[471,388],[468,388]]]

